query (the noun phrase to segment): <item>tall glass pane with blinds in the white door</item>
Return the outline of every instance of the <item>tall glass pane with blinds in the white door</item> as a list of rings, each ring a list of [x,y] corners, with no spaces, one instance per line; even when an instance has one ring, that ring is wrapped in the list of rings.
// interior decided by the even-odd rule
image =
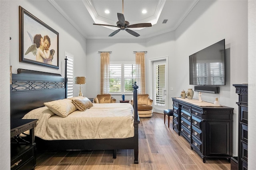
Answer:
[[[165,64],[154,64],[154,104],[165,106]]]

